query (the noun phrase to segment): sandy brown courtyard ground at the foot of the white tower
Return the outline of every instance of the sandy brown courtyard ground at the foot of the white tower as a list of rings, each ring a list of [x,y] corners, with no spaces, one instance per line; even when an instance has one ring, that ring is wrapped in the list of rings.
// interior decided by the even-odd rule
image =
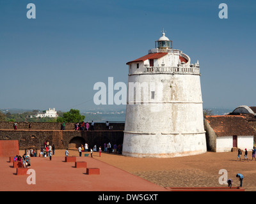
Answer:
[[[63,157],[65,150],[55,150],[54,157]],[[90,153],[90,152],[88,152]],[[24,151],[20,151],[24,154]],[[84,152],[83,152],[84,154]],[[118,154],[93,152],[93,158],[111,164],[124,171],[148,180],[161,187],[220,187],[222,174],[233,180],[233,186],[239,186],[237,173],[244,175],[245,191],[256,191],[256,161],[251,161],[252,152],[248,152],[250,161],[237,161],[237,152],[206,152],[196,156],[159,158],[134,158]],[[76,150],[70,150],[71,156],[79,156]]]

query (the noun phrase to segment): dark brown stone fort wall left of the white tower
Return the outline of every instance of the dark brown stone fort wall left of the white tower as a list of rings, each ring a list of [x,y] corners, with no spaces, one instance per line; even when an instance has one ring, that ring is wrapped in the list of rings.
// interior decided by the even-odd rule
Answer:
[[[105,123],[96,123],[95,131],[75,131],[74,123],[65,123],[62,131],[61,123],[33,122],[28,129],[28,122],[18,122],[18,129],[13,129],[13,122],[0,122],[0,140],[18,140],[19,149],[40,149],[45,140],[55,145],[55,149],[78,147],[86,142],[89,148],[97,145],[104,149],[104,143],[122,144],[124,139],[124,123],[111,124],[113,129],[107,130]]]

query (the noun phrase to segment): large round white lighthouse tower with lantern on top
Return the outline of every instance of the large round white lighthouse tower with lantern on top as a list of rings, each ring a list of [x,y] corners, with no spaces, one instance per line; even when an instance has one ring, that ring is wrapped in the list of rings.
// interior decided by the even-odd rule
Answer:
[[[172,48],[163,31],[156,48],[129,65],[123,155],[178,157],[207,151],[200,68]]]

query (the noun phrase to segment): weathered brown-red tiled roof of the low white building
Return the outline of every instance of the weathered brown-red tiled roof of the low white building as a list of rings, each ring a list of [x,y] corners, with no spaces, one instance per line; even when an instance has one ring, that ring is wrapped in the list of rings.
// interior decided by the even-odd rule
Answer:
[[[205,119],[217,136],[256,135],[246,118],[241,115],[207,115]]]

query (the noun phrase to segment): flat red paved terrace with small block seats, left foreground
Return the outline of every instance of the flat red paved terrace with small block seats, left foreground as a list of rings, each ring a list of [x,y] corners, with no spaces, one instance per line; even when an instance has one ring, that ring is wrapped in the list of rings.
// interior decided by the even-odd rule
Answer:
[[[77,157],[87,166],[100,168],[100,175],[87,175],[85,168],[75,168],[65,157],[31,157],[36,184],[29,185],[29,175],[15,175],[9,158],[0,157],[0,191],[167,191],[164,187],[141,179],[127,171],[91,157]]]

